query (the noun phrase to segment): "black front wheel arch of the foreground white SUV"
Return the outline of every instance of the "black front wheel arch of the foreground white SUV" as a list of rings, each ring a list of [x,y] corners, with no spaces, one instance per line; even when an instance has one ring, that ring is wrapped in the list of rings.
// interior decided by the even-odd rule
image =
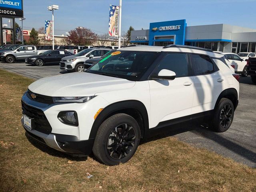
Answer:
[[[144,104],[138,100],[126,100],[108,105],[100,112],[92,125],[89,139],[95,138],[102,122],[110,116],[125,113],[132,116],[140,126],[142,138],[146,137],[149,129],[148,112]]]

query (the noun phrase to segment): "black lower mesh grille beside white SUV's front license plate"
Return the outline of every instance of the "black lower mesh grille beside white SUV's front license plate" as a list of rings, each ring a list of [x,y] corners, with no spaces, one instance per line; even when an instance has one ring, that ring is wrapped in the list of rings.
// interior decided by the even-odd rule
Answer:
[[[42,110],[28,106],[23,101],[21,101],[21,105],[23,114],[27,115],[32,120],[32,129],[44,134],[50,134],[52,132],[52,127]]]

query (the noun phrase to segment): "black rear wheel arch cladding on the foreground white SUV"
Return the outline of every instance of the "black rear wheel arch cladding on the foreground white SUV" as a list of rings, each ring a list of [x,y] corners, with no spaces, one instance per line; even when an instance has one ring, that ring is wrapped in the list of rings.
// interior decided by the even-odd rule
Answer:
[[[234,109],[236,109],[236,107],[238,105],[238,92],[235,88],[228,88],[228,89],[223,90],[220,93],[220,95],[218,96],[218,99],[215,103],[214,110],[216,109],[216,107],[218,106],[218,103],[220,102],[220,100],[222,98],[230,99],[234,105]]]

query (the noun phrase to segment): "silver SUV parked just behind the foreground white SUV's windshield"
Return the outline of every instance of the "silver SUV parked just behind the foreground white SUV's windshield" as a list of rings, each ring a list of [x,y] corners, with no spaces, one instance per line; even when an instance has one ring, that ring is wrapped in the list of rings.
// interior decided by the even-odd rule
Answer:
[[[109,48],[90,48],[80,51],[78,54],[67,56],[60,61],[60,69],[69,72],[84,71],[84,62],[91,58],[100,58],[111,49]]]

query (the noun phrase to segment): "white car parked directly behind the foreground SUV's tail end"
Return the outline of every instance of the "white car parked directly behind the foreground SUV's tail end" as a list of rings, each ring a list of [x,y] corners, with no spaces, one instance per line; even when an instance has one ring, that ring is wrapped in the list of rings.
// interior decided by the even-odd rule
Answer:
[[[247,62],[240,58],[237,54],[234,53],[222,53],[225,55],[226,59],[230,61],[232,65],[235,66],[235,72],[238,74],[242,74],[243,77],[247,77]]]

